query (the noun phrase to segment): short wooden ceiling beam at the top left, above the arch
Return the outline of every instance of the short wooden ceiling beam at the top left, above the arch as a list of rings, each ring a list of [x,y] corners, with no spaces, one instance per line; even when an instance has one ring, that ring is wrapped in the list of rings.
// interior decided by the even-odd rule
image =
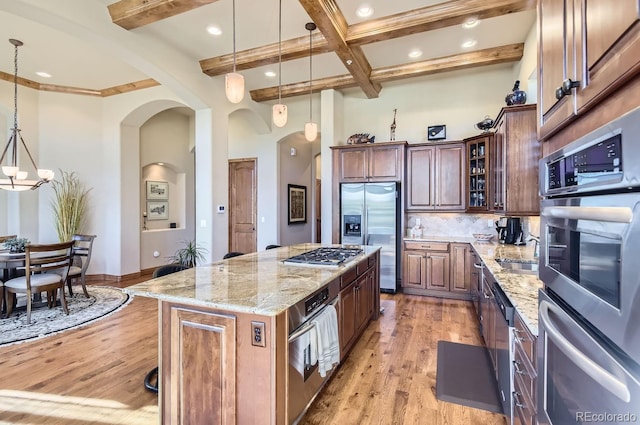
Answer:
[[[126,30],[157,22],[217,0],[120,0],[107,6],[111,21]]]

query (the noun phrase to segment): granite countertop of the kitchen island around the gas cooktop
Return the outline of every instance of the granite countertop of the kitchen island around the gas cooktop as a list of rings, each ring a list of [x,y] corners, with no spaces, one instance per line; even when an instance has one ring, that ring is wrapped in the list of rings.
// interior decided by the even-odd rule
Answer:
[[[275,316],[380,250],[379,246],[358,245],[363,254],[338,267],[282,262],[322,246],[340,245],[299,244],[254,252],[151,279],[123,291],[162,301]]]

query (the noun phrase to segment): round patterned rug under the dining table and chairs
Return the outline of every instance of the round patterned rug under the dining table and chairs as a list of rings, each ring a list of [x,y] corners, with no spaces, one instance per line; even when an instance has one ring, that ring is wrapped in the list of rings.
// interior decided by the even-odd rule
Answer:
[[[104,318],[126,305],[130,298],[119,288],[87,286],[89,298],[82,291],[67,296],[69,315],[61,306],[39,307],[31,311],[31,324],[27,324],[27,312],[14,311],[11,317],[0,319],[0,347],[17,342],[32,341]]]

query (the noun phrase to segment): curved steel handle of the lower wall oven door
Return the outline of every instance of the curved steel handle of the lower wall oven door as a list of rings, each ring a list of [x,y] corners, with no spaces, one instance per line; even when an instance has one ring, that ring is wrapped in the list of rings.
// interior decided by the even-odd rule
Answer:
[[[589,375],[594,381],[599,383],[611,394],[618,397],[625,403],[629,403],[631,400],[631,394],[624,382],[617,379],[607,370],[605,370],[598,363],[587,357],[582,351],[576,348],[567,338],[565,338],[558,328],[553,325],[551,318],[549,317],[549,311],[553,311],[558,317],[562,317],[564,312],[558,307],[550,304],[548,301],[540,301],[540,321],[544,326],[544,330],[547,336],[553,340],[567,358],[578,366],[584,373]]]

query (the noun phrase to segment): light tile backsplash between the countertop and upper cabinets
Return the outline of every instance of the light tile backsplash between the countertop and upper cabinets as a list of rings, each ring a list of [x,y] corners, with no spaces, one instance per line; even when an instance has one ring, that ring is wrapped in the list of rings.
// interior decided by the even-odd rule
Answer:
[[[424,236],[471,236],[473,233],[491,233],[497,236],[495,222],[500,218],[494,214],[464,213],[407,213],[405,236],[411,236],[411,229],[420,220]],[[540,235],[540,217],[521,217],[524,236],[529,233]],[[489,227],[489,221],[492,225]]]

